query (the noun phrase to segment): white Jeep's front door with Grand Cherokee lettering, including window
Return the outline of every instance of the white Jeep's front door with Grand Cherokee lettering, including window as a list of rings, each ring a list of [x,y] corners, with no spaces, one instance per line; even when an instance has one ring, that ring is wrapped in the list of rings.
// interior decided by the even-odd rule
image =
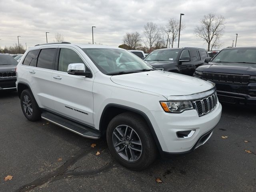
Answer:
[[[55,112],[94,126],[93,124],[93,78],[68,74],[68,64],[83,63],[86,71],[91,71],[82,55],[74,48],[60,46],[56,60],[56,70],[52,74],[52,93]]]

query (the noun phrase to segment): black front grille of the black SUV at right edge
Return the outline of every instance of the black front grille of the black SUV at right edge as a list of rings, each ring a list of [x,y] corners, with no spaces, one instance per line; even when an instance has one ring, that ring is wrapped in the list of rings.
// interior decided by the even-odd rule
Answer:
[[[250,76],[249,75],[226,74],[226,73],[203,72],[202,79],[210,80],[213,82],[247,84],[249,82]]]

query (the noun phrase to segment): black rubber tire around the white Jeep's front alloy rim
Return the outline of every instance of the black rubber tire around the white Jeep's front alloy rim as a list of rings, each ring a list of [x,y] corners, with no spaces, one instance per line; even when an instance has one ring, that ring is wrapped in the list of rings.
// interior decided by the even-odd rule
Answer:
[[[113,141],[115,139],[114,131],[116,131],[116,128],[119,128],[120,126],[126,126],[129,128],[132,128],[132,130],[135,131],[134,133],[135,136],[138,136],[137,138],[139,138],[139,140],[141,141],[140,144],[142,147],[141,148],[142,152],[138,152],[140,153],[140,156],[139,157],[136,156],[136,158],[138,159],[134,160],[133,162],[130,161],[131,158],[130,160],[125,160],[120,155],[120,153],[118,154],[116,150],[116,148],[121,149],[126,144],[122,144],[118,147],[114,147],[114,143],[115,143],[115,141]],[[108,124],[106,138],[107,138],[108,147],[110,149],[111,154],[122,166],[125,166],[126,168],[129,168],[131,170],[144,170],[150,164],[152,164],[152,162],[154,162],[154,160],[156,159],[158,151],[156,148],[156,144],[154,142],[154,138],[152,137],[150,133],[150,129],[148,128],[148,125],[146,124],[143,118],[138,117],[138,115],[132,112],[125,112],[115,116]],[[131,145],[134,146],[133,144]],[[127,150],[129,152],[130,148],[129,149],[127,148]],[[132,152],[130,152],[130,156],[132,155],[131,153]],[[123,152],[123,154],[125,153]]]

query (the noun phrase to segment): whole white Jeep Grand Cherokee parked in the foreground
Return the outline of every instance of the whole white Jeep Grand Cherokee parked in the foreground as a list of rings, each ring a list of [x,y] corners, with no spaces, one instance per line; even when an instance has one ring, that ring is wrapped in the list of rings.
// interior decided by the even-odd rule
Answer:
[[[158,153],[190,152],[218,124],[215,86],[155,70],[115,47],[44,44],[26,51],[17,68],[22,111],[87,138],[106,135],[111,154],[142,170]]]

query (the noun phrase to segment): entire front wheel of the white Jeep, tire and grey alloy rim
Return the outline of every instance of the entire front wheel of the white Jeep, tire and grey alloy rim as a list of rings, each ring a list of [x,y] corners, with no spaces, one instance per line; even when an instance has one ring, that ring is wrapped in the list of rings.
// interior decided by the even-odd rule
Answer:
[[[132,112],[115,116],[106,137],[114,158],[131,170],[143,170],[156,158],[156,144],[146,122]]]

